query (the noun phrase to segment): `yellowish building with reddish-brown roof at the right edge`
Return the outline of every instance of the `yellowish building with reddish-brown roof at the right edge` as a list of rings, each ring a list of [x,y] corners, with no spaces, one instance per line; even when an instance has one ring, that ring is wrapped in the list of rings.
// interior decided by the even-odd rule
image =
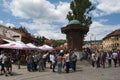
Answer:
[[[103,49],[120,49],[120,29],[117,29],[103,38]]]

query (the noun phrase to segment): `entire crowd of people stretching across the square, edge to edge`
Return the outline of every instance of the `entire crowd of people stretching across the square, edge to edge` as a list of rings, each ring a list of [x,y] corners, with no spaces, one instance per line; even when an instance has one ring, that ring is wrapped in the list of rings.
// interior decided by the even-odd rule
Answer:
[[[93,67],[117,67],[120,66],[120,50],[98,51],[84,49],[82,56],[78,58],[78,51],[71,50],[53,50],[53,51],[34,51],[24,54],[24,62],[26,63],[29,72],[45,71],[49,68],[52,72],[69,73],[70,70],[76,71],[76,62],[83,59],[88,60]],[[22,59],[20,53],[6,54],[0,52],[0,75],[13,75],[12,63],[19,62]],[[16,58],[16,59],[15,59]]]

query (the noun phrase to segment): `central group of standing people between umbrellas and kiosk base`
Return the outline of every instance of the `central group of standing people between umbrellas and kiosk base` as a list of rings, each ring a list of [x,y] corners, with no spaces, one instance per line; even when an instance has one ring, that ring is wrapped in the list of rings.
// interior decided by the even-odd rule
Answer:
[[[29,54],[26,56],[27,70],[44,71],[46,69],[46,63],[52,72],[61,73],[63,70],[69,73],[69,69],[72,68],[76,71],[77,55],[74,50],[54,50],[54,51],[40,51],[36,54]],[[55,70],[57,68],[57,70]]]

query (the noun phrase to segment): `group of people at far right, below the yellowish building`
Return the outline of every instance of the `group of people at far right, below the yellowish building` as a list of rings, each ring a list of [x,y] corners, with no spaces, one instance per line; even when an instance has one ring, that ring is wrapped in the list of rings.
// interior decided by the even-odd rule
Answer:
[[[120,66],[120,50],[95,51],[90,57],[93,67],[114,67]]]

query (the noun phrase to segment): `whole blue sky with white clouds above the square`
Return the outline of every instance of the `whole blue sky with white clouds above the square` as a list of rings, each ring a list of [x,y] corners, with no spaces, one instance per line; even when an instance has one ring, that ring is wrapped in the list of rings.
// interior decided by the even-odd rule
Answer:
[[[0,24],[26,27],[29,33],[49,39],[65,39],[61,27],[67,25],[66,14],[72,0],[0,0]],[[85,40],[100,40],[120,29],[119,0],[90,0],[96,6],[92,25]]]

